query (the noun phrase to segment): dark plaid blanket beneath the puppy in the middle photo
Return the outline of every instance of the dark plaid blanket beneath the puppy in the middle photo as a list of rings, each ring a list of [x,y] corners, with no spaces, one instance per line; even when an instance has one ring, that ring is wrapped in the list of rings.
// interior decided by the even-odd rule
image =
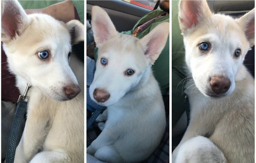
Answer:
[[[91,112],[87,110],[87,120],[90,118]],[[142,163],[169,163],[169,116],[166,118],[166,129],[163,135],[163,139],[158,146],[158,148]],[[93,125],[87,129],[87,136],[86,136],[86,147],[88,147],[93,140],[97,138],[100,134],[100,130],[97,126],[97,122],[94,122]]]

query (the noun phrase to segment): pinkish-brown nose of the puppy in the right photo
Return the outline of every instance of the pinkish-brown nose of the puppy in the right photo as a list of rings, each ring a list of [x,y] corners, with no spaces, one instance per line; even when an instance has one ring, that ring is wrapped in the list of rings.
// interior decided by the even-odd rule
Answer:
[[[231,81],[229,78],[223,76],[213,76],[211,77],[210,85],[212,90],[217,93],[226,93],[230,87]]]

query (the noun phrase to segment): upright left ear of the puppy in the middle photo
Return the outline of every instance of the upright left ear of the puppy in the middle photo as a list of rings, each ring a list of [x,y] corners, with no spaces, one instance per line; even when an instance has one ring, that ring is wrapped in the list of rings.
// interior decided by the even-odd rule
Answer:
[[[92,28],[97,47],[118,34],[106,11],[99,6],[93,6],[92,8]]]

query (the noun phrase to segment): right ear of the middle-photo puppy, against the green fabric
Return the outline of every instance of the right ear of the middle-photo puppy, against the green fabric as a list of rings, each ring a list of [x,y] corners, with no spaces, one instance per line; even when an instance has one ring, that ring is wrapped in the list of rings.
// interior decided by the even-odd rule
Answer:
[[[157,25],[153,30],[140,39],[144,54],[150,59],[151,64],[159,57],[162,52],[169,35],[169,23],[163,22]]]

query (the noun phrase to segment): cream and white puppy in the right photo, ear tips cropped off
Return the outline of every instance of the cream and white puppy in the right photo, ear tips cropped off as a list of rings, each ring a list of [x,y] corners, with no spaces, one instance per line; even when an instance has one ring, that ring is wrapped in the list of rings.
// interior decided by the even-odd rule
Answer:
[[[233,19],[206,1],[181,1],[179,22],[191,119],[173,162],[253,163],[254,79],[243,60],[254,45],[254,9]]]

